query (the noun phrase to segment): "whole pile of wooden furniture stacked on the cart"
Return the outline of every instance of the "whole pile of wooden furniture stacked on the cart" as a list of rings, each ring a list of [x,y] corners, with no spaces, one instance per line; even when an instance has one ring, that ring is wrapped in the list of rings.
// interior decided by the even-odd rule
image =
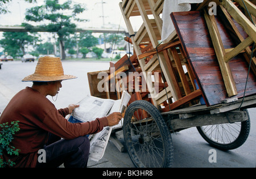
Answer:
[[[164,0],[120,2],[130,35],[125,40],[133,45],[134,54],[110,63],[114,71],[110,68],[107,80],[115,76],[114,84],[122,88],[114,93],[106,92],[105,96],[119,99],[122,90],[127,90],[132,96],[130,103],[147,100],[160,112],[168,112],[199,104],[199,101],[210,106],[230,97],[241,98],[245,84],[245,96],[255,94],[256,59],[252,44],[256,35],[253,25],[256,8],[250,1],[243,1],[249,13],[241,0],[234,3],[214,0],[216,16],[208,13],[208,4],[212,2],[209,0],[193,6],[197,11],[172,13],[176,31],[164,42],[160,42]],[[247,18],[248,14],[252,20]],[[143,21],[136,33],[131,25],[134,18]],[[122,73],[126,74],[125,83],[118,77]],[[129,78],[131,75],[133,78]],[[133,83],[129,86],[131,79]]]

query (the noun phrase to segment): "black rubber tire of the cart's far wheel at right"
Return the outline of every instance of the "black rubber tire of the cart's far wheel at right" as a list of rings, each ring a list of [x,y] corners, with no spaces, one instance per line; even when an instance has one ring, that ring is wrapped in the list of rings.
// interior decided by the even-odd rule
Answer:
[[[237,139],[234,140],[232,143],[229,144],[220,144],[217,142],[214,142],[213,140],[209,139],[207,135],[205,135],[204,131],[201,129],[201,127],[197,127],[197,130],[199,131],[201,137],[203,137],[210,146],[213,146],[215,148],[218,148],[220,150],[234,150],[238,147],[241,147],[243,143],[245,143],[246,139],[249,136],[250,133],[250,116],[247,110],[245,110],[248,116],[248,120],[241,122],[241,130],[240,134],[238,135]]]

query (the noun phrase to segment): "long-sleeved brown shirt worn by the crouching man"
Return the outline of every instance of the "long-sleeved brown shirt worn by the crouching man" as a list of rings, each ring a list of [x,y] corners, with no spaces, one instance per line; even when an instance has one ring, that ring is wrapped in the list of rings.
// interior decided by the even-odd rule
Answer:
[[[57,110],[51,101],[30,87],[18,92],[3,110],[0,123],[20,121],[20,130],[11,142],[11,146],[20,152],[19,156],[3,154],[3,159],[11,159],[15,167],[35,167],[38,150],[46,144],[49,133],[74,139],[98,133],[108,126],[106,117],[92,122],[70,123],[65,119],[68,112],[68,108]]]

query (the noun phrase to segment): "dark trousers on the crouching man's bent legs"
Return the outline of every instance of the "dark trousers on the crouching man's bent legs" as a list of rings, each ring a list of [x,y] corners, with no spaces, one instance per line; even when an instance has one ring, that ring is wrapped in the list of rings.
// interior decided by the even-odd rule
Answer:
[[[36,167],[55,168],[64,164],[65,168],[85,168],[88,162],[90,141],[86,136],[72,140],[60,140],[56,135],[50,134],[48,143],[43,149],[46,151],[46,163],[38,161]]]

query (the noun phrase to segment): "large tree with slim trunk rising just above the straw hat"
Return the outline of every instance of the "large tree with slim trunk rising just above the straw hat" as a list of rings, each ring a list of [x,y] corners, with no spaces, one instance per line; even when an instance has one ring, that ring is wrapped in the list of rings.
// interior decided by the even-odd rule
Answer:
[[[38,25],[36,28],[43,28],[48,32],[57,32],[61,59],[65,59],[66,57],[64,48],[65,37],[75,33],[76,24],[72,23],[72,20],[77,22],[85,21],[76,18],[76,15],[83,12],[85,8],[80,4],[73,6],[71,4],[72,1],[60,4],[58,0],[46,0],[45,5],[28,9],[25,17],[30,22],[44,23],[43,25]],[[34,27],[32,25],[25,25],[33,31]]]

